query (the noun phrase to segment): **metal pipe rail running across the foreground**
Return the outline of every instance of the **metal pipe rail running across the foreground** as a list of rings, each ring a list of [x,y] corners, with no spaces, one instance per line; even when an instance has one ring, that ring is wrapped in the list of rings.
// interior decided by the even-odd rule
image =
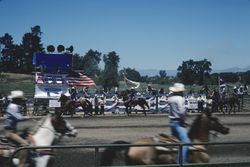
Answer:
[[[250,145],[250,141],[238,141],[238,142],[202,142],[202,143],[185,143],[185,144],[95,144],[95,145],[56,145],[56,146],[28,146],[28,147],[20,147],[16,149],[13,154],[10,157],[10,162],[12,162],[12,159],[15,158],[18,152],[21,150],[34,150],[34,149],[94,149],[94,159],[95,159],[95,167],[101,167],[100,164],[100,149],[102,148],[107,148],[107,147],[154,147],[154,146],[178,146],[180,150],[183,146],[188,146],[188,145],[243,145],[247,144]],[[182,154],[182,152],[181,152]],[[180,156],[181,157],[181,156]],[[181,162],[181,161],[180,161]],[[182,162],[180,164],[165,164],[165,165],[130,165],[129,167],[145,167],[145,166],[150,166],[150,167],[160,167],[160,166],[165,166],[165,167],[185,167],[185,166],[192,166],[192,167],[233,167],[233,166],[250,166],[250,161],[245,161],[245,162],[225,162],[225,163],[197,163],[197,164],[183,164]],[[113,166],[114,167],[114,166]],[[122,167],[122,166],[119,166]],[[125,167],[125,166],[124,166]],[[126,166],[127,167],[127,166]]]

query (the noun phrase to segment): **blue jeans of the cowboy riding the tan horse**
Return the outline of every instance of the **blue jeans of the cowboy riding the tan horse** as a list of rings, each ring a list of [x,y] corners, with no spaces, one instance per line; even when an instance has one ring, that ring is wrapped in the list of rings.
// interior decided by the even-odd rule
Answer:
[[[181,143],[190,143],[190,139],[188,137],[187,130],[185,127],[182,126],[181,121],[171,120],[170,127],[171,127],[172,135],[177,137]],[[182,147],[182,163],[183,164],[188,162],[188,147],[189,146]],[[178,154],[177,162],[179,162],[179,160],[180,160],[179,156],[180,156],[180,153]]]

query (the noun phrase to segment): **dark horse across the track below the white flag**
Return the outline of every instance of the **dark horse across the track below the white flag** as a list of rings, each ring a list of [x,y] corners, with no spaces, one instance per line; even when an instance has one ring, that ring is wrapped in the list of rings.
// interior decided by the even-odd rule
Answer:
[[[131,109],[137,105],[143,109],[144,115],[147,116],[146,107],[149,109],[149,105],[144,98],[132,98],[131,99],[128,95],[124,95],[123,101],[124,101],[125,111],[128,116],[131,113]]]

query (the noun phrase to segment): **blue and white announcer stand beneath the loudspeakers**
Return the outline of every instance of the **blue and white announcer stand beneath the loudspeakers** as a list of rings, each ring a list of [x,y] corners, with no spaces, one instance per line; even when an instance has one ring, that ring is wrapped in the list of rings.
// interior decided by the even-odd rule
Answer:
[[[67,76],[72,67],[70,53],[35,53],[35,93],[33,115],[45,115],[60,107],[61,94],[70,96]]]

